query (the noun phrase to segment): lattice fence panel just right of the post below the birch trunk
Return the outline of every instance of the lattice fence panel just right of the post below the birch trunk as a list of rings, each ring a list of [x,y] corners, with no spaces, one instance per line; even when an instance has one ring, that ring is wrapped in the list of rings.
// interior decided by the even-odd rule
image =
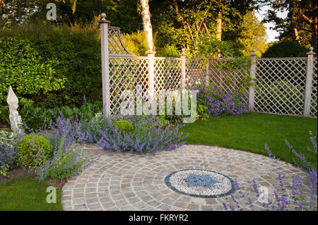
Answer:
[[[155,58],[155,93],[161,90],[177,90],[181,88],[182,61],[175,59]]]

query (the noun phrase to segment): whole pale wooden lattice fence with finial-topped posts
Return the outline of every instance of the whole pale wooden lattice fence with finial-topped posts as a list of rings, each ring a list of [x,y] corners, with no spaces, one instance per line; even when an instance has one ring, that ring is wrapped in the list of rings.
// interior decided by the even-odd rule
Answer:
[[[226,59],[187,59],[184,49],[179,58],[131,54],[122,43],[120,29],[110,26],[102,13],[102,98],[107,115],[120,111],[124,90],[158,95],[161,90],[179,90],[196,83],[215,83],[225,90],[241,90],[252,111],[317,118],[317,58],[312,48],[307,57],[257,59],[233,70],[220,69]],[[249,83],[247,80],[251,79]],[[247,85],[249,84],[249,85]],[[251,85],[252,84],[252,85]],[[129,100],[129,99],[126,99]]]

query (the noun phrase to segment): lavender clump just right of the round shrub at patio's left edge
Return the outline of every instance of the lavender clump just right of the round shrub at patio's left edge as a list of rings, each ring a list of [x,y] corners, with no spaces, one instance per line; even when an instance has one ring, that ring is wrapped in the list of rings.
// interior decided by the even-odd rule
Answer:
[[[81,147],[76,147],[76,142],[90,139],[88,132],[82,132],[81,126],[80,121],[59,117],[57,123],[45,133],[54,151],[52,157],[40,151],[34,159],[35,162],[45,162],[44,165],[35,163],[40,165],[35,168],[40,181],[45,181],[48,177],[63,180],[76,176],[98,160],[92,155],[84,157]]]

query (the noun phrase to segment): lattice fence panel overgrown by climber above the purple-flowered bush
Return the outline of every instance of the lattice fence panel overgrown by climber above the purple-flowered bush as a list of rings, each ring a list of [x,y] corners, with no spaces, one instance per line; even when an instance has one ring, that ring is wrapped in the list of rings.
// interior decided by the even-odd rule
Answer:
[[[248,103],[249,87],[247,85],[247,75],[249,75],[249,66],[240,65],[235,69],[229,70],[225,69],[227,63],[230,62],[225,59],[209,61],[209,81],[228,92],[240,90],[245,97],[245,102]]]

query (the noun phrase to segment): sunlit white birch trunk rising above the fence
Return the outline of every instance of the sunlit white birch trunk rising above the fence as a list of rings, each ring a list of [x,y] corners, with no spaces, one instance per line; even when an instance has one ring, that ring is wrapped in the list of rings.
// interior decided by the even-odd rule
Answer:
[[[142,12],[141,16],[143,18],[143,31],[146,34],[148,49],[149,51],[155,51],[155,45],[153,44],[153,28],[151,26],[151,13],[149,11],[148,0],[140,0]]]

